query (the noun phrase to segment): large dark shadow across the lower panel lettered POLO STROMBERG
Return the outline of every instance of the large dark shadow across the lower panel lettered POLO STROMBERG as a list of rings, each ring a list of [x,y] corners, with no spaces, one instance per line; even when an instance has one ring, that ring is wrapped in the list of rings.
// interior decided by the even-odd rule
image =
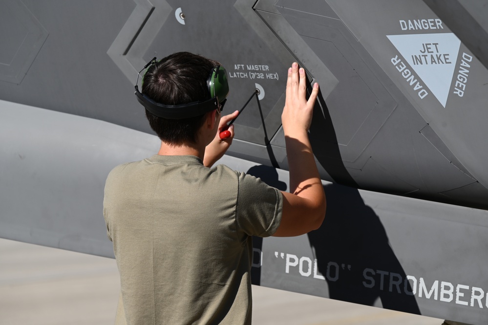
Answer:
[[[329,297],[370,306],[381,300],[383,308],[420,314],[380,218],[357,189],[331,184],[324,190],[325,220],[308,238]]]

